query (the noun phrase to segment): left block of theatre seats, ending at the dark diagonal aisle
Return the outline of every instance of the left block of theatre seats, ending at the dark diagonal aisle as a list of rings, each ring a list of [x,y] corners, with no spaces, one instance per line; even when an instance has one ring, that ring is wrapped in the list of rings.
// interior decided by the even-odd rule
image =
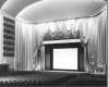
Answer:
[[[71,75],[60,73],[33,72],[19,75],[9,75],[7,82],[0,82],[0,86],[57,86],[66,82]],[[3,76],[4,77],[4,76]]]

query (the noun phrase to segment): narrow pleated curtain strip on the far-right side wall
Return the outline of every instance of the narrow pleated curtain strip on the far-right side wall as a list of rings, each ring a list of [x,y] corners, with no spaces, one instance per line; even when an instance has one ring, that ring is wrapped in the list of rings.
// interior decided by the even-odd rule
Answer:
[[[107,73],[108,65],[108,20],[107,9],[97,16],[98,20],[98,52],[97,52],[97,67],[102,67],[102,73]]]

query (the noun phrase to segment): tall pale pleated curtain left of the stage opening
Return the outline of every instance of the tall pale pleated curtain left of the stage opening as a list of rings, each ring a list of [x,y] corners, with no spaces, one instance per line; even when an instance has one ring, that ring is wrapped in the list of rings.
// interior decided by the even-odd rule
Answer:
[[[16,21],[15,29],[15,70],[37,71],[40,70],[40,30],[36,25]]]

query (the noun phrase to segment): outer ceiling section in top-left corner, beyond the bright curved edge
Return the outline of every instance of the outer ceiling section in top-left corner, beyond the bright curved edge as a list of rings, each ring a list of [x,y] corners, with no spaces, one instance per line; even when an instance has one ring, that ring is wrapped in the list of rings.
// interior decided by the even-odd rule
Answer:
[[[3,2],[3,0],[0,0],[0,3],[1,1]],[[41,0],[5,0],[1,10],[3,12],[11,14],[13,17],[15,17],[27,5],[38,2],[38,1],[41,1]]]

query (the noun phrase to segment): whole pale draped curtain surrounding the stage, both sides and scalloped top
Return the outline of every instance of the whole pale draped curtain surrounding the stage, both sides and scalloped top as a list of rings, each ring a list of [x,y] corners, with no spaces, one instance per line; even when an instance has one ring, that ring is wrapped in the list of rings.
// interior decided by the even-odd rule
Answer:
[[[86,67],[96,73],[100,65],[107,65],[107,9],[93,17],[72,18],[40,24],[25,24],[16,21],[16,70],[40,69],[43,41],[81,39],[85,50]]]

